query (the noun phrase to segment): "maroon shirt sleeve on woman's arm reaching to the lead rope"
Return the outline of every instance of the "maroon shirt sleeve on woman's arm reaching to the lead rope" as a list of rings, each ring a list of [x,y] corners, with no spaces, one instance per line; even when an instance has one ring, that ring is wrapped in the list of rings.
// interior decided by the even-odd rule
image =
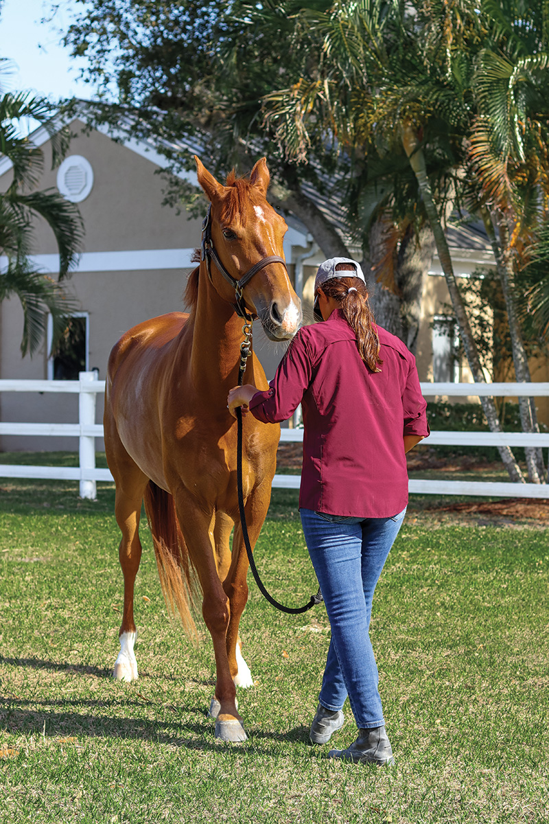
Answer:
[[[305,336],[300,330],[288,347],[269,388],[256,392],[249,402],[254,418],[265,424],[278,424],[295,412],[312,377],[311,358]]]

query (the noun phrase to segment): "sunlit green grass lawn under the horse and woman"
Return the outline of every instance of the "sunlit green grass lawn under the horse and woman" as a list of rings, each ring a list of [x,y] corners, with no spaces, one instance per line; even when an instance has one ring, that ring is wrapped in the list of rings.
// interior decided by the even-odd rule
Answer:
[[[97,501],[69,482],[0,487],[1,824],[549,821],[546,531],[437,521],[421,507],[408,517],[372,619],[397,762],[379,770],[307,743],[323,606],[281,615],[250,576],[249,740],[215,742],[211,644],[170,624],[147,528],[140,679],[111,680],[123,597],[112,486],[98,485]],[[293,490],[274,490],[256,557],[283,602],[316,591]],[[356,736],[348,705],[346,717],[337,746]]]

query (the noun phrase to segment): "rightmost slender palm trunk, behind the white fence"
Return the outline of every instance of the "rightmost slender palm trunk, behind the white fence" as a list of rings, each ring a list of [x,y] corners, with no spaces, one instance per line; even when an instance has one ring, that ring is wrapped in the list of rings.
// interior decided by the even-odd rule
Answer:
[[[494,251],[497,273],[505,299],[505,308],[509,320],[511,350],[513,352],[514,375],[519,383],[531,383],[532,377],[528,366],[528,356],[524,349],[523,336],[514,302],[514,266],[509,254],[509,227],[505,215],[499,213],[497,219],[501,244],[499,246],[495,237],[494,223],[486,210],[483,211],[482,218],[491,241],[492,250]],[[519,414],[523,432],[539,432],[536,405],[533,397],[519,397]],[[542,483],[545,471],[542,450],[529,447],[526,448],[524,452],[526,454],[526,465],[528,466],[528,480],[530,480],[532,484]]]

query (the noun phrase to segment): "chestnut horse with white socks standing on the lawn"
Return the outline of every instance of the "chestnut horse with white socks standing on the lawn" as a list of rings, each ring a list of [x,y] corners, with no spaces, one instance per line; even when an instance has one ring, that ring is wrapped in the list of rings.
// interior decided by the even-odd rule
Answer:
[[[116,483],[124,579],[114,677],[137,678],[133,590],[142,554],[138,527],[144,500],[166,603],[179,611],[191,632],[193,596],[202,592],[202,616],[216,660],[210,707],[216,737],[244,741],[235,685],[252,685],[239,638],[248,557],[236,491],[236,422],[227,410],[227,393],[238,382],[243,340],[235,286],[236,307],[258,316],[272,340],[291,339],[301,311],[281,257],[286,222],[265,199],[265,158],[249,179],[231,172],[225,186],[198,157],[195,161],[211,206],[202,230],[202,260],[188,279],[185,297],[191,311],[133,327],[109,357],[105,450]],[[246,283],[242,290],[240,279]],[[268,387],[253,351],[244,382]],[[243,475],[252,545],[267,514],[279,437],[278,426],[247,416]]]

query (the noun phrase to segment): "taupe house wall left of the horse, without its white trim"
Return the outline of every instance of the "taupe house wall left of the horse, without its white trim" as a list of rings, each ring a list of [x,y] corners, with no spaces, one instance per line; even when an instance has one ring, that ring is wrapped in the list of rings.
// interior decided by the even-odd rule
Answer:
[[[79,125],[72,124],[77,132]],[[40,188],[57,188],[57,170],[51,170],[49,143],[44,151],[44,175]],[[191,250],[200,241],[201,221],[187,220],[170,207],[162,207],[163,181],[157,166],[105,135],[81,133],[71,143],[68,155],[79,154],[91,163],[94,185],[78,207],[85,226],[84,251],[120,252],[126,250]],[[5,190],[12,178],[7,171],[0,178]],[[33,253],[55,253],[53,232],[37,219]],[[123,265],[123,264],[122,264]],[[77,299],[77,311],[89,313],[90,368],[97,367],[105,380],[109,351],[123,331],[147,317],[166,311],[183,310],[182,294],[191,271],[177,269],[138,269],[130,271],[81,271],[67,279],[67,292]],[[44,379],[47,377],[45,344],[33,358],[21,358],[19,349],[22,310],[17,300],[0,304],[0,377]],[[77,421],[77,396],[33,393],[0,394],[3,421],[74,423]],[[96,420],[103,414],[103,396],[97,396]],[[102,448],[102,443],[97,442]],[[1,450],[77,449],[75,438],[0,438]]]

